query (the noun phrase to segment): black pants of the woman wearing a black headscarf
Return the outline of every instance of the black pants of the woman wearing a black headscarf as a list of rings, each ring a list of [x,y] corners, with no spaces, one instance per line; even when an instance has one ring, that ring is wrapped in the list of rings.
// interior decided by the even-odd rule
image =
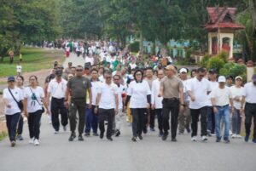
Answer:
[[[132,134],[134,137],[142,135],[144,126],[145,108],[131,108]]]

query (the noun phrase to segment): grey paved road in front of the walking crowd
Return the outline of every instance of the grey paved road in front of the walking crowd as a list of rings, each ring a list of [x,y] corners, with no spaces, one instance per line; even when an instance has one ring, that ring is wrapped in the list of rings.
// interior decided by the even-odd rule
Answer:
[[[83,62],[79,60],[81,58],[75,61]],[[256,170],[256,145],[243,140],[217,144],[212,137],[207,143],[191,142],[190,135],[183,134],[177,135],[178,142],[173,143],[170,137],[163,142],[157,132],[149,132],[142,141],[134,143],[131,127],[124,121],[121,136],[113,142],[98,137],[69,142],[70,133],[54,134],[47,120],[46,116],[42,118],[39,146],[28,144],[27,125],[24,125],[26,139],[18,142],[15,148],[9,147],[7,139],[0,142],[0,171]]]

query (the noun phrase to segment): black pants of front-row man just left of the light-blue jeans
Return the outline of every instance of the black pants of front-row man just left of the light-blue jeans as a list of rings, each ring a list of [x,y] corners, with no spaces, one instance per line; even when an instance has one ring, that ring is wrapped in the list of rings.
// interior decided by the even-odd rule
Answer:
[[[201,136],[207,136],[207,106],[201,107],[200,109],[190,109],[190,115],[192,117],[191,137],[197,135],[197,123],[199,121],[199,116],[201,116]]]

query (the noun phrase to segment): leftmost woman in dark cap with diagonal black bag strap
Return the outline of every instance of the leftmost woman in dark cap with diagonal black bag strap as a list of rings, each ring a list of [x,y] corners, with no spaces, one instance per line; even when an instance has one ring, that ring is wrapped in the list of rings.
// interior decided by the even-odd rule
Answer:
[[[15,77],[8,77],[8,88],[3,90],[4,113],[11,146],[16,144],[16,130],[23,104],[23,94],[15,87]]]

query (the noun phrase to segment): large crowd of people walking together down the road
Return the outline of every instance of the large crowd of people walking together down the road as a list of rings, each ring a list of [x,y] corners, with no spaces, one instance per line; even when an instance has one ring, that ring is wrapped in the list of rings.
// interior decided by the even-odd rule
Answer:
[[[218,76],[214,68],[178,69],[160,54],[148,55],[149,60],[140,53],[135,57],[115,43],[66,41],[63,45],[67,57],[75,53],[84,64],[69,62],[64,68],[55,62],[44,87],[36,76],[29,77],[27,87],[21,75],[8,77],[3,101],[11,146],[23,140],[23,117],[28,120],[29,143],[40,144],[43,113],[49,115],[55,134],[61,126],[67,131],[69,123],[69,141],[76,139],[77,127],[80,141],[91,132],[113,141],[113,136],[121,135],[126,119],[134,142],[156,131],[157,118],[162,140],[170,134],[176,142],[177,134],[187,132],[197,141],[200,120],[202,141],[216,136],[216,142],[230,143],[230,136],[241,138],[245,116],[244,140],[248,142],[253,122],[256,143],[256,74],[244,84],[241,76]]]

